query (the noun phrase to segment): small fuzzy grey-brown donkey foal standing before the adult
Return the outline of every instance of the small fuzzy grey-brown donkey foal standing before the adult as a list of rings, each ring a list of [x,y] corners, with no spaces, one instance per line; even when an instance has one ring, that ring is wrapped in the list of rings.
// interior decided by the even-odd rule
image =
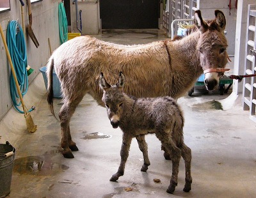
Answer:
[[[148,159],[145,135],[156,133],[161,141],[166,156],[172,160],[172,178],[166,192],[173,193],[177,186],[180,156],[184,158],[186,167],[185,192],[191,190],[191,149],[186,146],[183,138],[184,118],[179,106],[173,98],[134,98],[122,92],[125,77],[120,72],[116,85],[110,86],[100,73],[99,85],[103,90],[102,101],[106,105],[108,118],[113,128],[120,126],[123,132],[123,142],[120,151],[121,162],[118,171],[110,181],[116,181],[124,175],[125,162],[133,137],[136,137],[143,153],[144,164],[141,171],[146,172],[150,161]]]

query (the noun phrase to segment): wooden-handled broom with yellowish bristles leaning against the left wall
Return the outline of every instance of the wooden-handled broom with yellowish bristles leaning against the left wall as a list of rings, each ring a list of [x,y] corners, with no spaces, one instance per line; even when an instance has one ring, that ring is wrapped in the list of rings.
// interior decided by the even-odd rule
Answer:
[[[26,119],[26,125],[27,125],[27,128],[28,128],[28,132],[31,132],[31,133],[35,132],[36,128],[37,128],[37,125],[34,124],[33,119],[31,117],[31,115],[29,114],[27,107],[24,105],[24,101],[23,101],[23,98],[22,98],[22,95],[21,95],[21,92],[20,92],[20,88],[19,88],[19,82],[17,80],[16,73],[15,73],[15,70],[13,68],[12,59],[11,59],[10,52],[8,50],[8,47],[7,47],[6,40],[4,38],[4,33],[3,33],[3,29],[2,29],[1,24],[0,24],[0,33],[1,33],[1,36],[2,36],[2,39],[3,39],[3,43],[4,43],[4,47],[5,47],[5,50],[6,50],[7,57],[8,57],[8,61],[9,61],[10,66],[11,66],[12,75],[13,75],[13,78],[15,80],[17,91],[19,93],[20,102],[22,104],[22,109],[24,110],[24,117]]]

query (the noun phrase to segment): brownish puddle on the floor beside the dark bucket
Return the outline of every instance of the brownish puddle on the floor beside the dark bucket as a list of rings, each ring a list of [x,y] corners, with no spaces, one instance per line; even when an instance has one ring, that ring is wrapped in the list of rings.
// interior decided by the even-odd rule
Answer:
[[[54,172],[61,172],[69,169],[67,165],[52,162],[51,158],[40,156],[27,156],[17,158],[13,163],[13,171],[20,174],[52,175]]]

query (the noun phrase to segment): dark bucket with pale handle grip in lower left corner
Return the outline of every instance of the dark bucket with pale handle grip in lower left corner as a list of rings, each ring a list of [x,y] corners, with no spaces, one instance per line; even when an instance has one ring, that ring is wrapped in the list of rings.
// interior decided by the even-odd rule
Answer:
[[[12,168],[15,148],[9,143],[0,144],[0,197],[6,197],[11,192]]]

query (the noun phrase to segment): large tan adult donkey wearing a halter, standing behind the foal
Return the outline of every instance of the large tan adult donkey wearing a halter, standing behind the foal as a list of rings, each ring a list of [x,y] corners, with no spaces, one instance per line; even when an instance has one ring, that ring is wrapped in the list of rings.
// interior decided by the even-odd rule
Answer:
[[[164,40],[144,45],[117,45],[90,36],[78,36],[56,49],[47,65],[47,101],[54,114],[52,70],[61,82],[63,105],[59,112],[61,147],[65,158],[74,158],[76,143],[70,135],[70,118],[86,93],[102,102],[99,73],[113,84],[118,73],[124,72],[127,86],[124,92],[141,97],[172,96],[177,99],[193,87],[205,72],[205,86],[218,87],[220,75],[227,64],[227,40],[223,34],[226,20],[222,11],[207,24],[200,10],[195,11],[198,29],[181,40]]]

